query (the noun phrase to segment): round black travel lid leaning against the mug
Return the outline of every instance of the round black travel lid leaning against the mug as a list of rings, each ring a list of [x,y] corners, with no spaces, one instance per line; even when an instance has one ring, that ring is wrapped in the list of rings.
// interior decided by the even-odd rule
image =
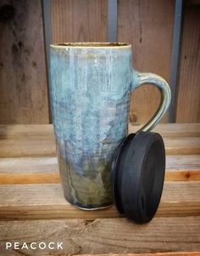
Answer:
[[[137,223],[153,219],[163,191],[164,141],[159,134],[138,132],[119,145],[112,165],[114,202],[119,213]]]

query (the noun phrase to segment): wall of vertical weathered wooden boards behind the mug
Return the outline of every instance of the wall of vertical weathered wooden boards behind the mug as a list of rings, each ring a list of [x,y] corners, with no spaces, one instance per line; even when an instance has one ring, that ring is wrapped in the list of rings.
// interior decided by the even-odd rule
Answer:
[[[138,71],[169,82],[175,0],[119,0],[118,41],[133,46]],[[108,41],[108,0],[52,0],[53,43]],[[176,122],[200,122],[200,5],[187,0],[181,37]],[[48,123],[49,103],[41,0],[0,2],[0,123]],[[155,88],[136,90],[131,122],[153,114]],[[134,104],[133,104],[134,103]],[[163,122],[168,122],[166,115]]]

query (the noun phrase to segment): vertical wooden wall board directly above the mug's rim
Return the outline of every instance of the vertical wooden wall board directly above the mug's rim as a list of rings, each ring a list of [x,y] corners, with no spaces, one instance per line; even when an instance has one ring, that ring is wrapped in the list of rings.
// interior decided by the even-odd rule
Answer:
[[[53,43],[108,39],[108,0],[53,0]]]

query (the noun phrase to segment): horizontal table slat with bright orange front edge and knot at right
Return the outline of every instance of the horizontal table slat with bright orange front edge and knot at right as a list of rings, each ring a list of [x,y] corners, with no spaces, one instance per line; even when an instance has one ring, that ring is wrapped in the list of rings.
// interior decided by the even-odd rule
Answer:
[[[165,181],[200,180],[200,156],[167,156]],[[60,183],[57,157],[0,159],[0,184]]]

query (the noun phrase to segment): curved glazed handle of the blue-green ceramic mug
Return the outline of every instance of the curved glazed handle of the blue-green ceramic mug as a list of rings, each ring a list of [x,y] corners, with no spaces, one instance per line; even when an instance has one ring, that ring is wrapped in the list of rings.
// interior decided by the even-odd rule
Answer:
[[[165,112],[168,110],[171,100],[171,91],[169,88],[169,84],[164,80],[164,78],[159,77],[153,73],[140,73],[133,70],[133,83],[131,85],[131,91],[133,92],[136,88],[141,87],[145,83],[150,83],[155,85],[161,95],[160,104],[158,105],[158,109],[153,115],[153,117],[138,131],[151,131],[160,121],[162,117],[164,117]]]

